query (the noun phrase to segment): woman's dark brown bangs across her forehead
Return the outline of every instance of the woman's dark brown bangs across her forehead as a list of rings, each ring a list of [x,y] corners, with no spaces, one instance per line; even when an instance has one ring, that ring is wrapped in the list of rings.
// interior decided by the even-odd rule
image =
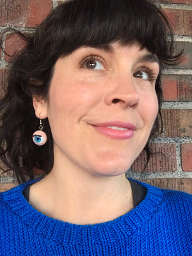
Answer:
[[[160,62],[166,62],[166,20],[153,4],[145,0],[79,0],[62,5],[54,28],[60,54],[81,46],[137,41],[156,54]]]

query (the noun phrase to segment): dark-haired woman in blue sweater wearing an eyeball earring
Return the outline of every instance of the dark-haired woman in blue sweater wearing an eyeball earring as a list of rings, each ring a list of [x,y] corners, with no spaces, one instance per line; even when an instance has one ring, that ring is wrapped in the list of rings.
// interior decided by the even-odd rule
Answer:
[[[145,0],[72,0],[25,37],[0,141],[32,181],[1,194],[0,255],[190,255],[191,196],[125,178],[158,133],[171,32]]]

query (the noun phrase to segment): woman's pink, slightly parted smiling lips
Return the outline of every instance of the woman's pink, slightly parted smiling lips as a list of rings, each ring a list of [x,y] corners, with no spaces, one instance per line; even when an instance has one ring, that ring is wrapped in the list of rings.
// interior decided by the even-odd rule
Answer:
[[[130,139],[134,135],[134,130],[136,130],[134,124],[119,121],[98,123],[92,126],[97,132],[112,139]]]

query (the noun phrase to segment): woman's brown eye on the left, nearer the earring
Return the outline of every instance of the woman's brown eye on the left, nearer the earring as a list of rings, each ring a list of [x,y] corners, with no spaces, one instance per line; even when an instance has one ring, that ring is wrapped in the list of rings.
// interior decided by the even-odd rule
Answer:
[[[95,69],[95,70],[104,70],[99,56],[89,56],[80,62],[81,67],[84,69]]]

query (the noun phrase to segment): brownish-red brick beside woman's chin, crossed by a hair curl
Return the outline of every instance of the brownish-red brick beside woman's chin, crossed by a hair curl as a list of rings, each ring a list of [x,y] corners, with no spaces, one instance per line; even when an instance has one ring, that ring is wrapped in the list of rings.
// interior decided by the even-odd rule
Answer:
[[[177,171],[176,148],[175,144],[154,143],[151,144],[154,154],[150,157],[145,172],[168,172]],[[143,151],[141,155],[132,164],[132,171],[142,172],[146,161],[146,155]]]

